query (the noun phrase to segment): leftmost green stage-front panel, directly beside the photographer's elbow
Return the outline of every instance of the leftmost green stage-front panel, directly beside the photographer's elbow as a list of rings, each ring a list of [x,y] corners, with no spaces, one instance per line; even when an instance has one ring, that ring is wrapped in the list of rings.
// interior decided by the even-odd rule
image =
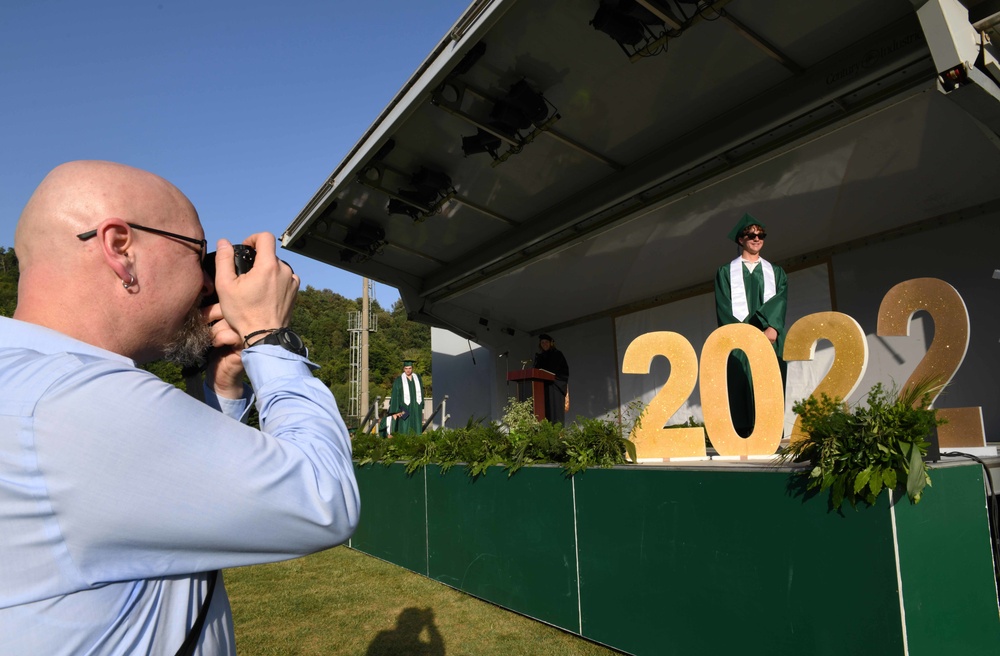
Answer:
[[[402,465],[358,467],[361,520],[351,548],[427,575],[424,472]]]

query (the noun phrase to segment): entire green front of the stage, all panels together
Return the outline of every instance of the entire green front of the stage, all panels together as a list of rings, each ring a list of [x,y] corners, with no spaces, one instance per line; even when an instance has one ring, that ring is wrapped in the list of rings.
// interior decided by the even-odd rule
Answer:
[[[978,464],[935,464],[917,505],[839,512],[795,471],[366,466],[350,546],[631,654],[996,653]]]

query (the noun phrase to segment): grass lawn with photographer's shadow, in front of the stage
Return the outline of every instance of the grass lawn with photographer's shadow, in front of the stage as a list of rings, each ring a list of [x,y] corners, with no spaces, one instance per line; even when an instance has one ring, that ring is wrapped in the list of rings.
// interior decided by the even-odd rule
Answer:
[[[225,582],[241,656],[619,653],[347,547]]]

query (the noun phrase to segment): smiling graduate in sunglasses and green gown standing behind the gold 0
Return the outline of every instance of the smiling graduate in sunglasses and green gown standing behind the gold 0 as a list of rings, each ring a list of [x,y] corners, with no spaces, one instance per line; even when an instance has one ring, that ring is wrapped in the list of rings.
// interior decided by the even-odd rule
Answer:
[[[740,254],[719,267],[715,276],[715,312],[719,326],[748,323],[764,333],[778,356],[784,383],[786,365],[782,354],[788,277],[781,267],[760,256],[766,236],[764,224],[749,214],[744,214],[729,232],[729,239],[739,246]],[[746,437],[753,432],[754,399],[750,365],[742,351],[730,354],[726,379],[733,426]]]

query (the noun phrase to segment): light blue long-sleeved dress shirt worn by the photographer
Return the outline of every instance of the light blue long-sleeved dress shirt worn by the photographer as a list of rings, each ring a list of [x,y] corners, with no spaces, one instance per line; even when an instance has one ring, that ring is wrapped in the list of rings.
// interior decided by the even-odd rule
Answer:
[[[260,431],[234,419],[245,401],[0,317],[0,654],[173,656],[204,572],[350,537],[350,440],[315,365],[278,346],[243,363]],[[236,653],[221,577],[197,653]]]

